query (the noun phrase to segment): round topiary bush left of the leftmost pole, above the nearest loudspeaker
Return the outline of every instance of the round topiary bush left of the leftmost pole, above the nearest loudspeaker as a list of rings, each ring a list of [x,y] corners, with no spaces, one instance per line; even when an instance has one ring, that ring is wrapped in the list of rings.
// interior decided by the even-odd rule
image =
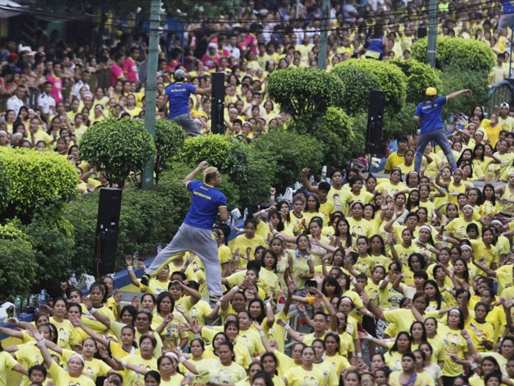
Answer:
[[[139,174],[143,165],[156,154],[144,121],[115,118],[87,129],[80,139],[79,150],[84,161],[105,173],[111,186],[116,184],[120,188],[131,173]]]

